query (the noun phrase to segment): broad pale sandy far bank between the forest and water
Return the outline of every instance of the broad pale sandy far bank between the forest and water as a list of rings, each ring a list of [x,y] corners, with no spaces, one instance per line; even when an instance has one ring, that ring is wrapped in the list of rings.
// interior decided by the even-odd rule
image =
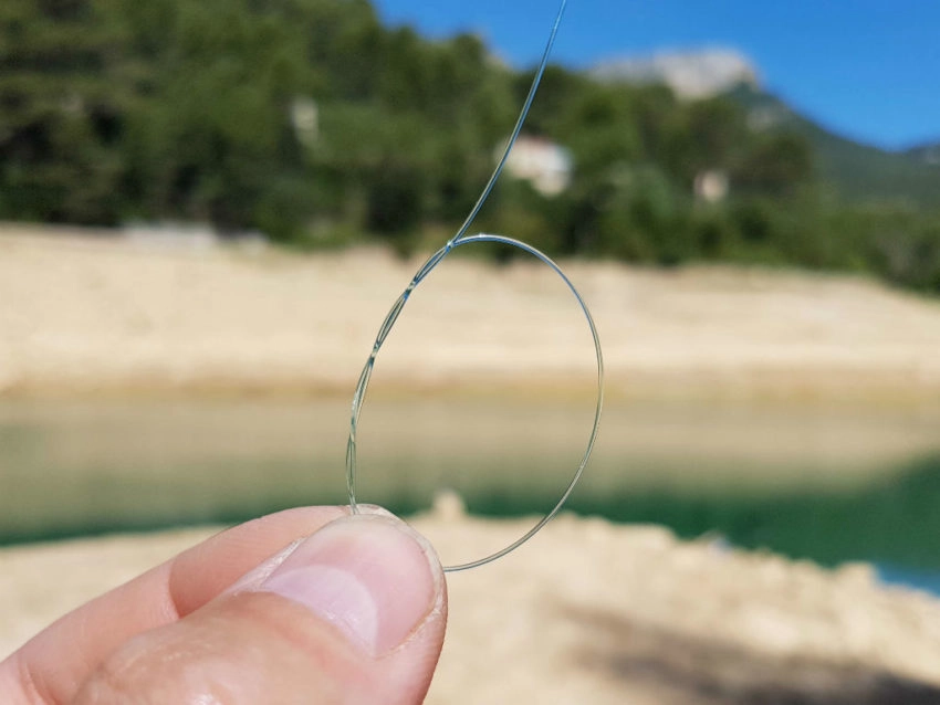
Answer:
[[[348,394],[417,262],[0,228],[0,393]],[[612,394],[930,401],[940,302],[764,270],[567,263]],[[587,388],[586,326],[532,263],[445,263],[379,360],[401,387]]]

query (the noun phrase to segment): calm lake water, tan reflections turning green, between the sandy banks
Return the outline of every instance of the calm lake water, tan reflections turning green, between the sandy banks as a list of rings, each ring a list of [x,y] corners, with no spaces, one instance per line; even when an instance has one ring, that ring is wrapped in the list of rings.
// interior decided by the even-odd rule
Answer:
[[[476,513],[544,512],[589,420],[578,397],[370,400],[359,499],[407,514],[453,488]],[[345,399],[2,402],[0,541],[345,503],[347,423]],[[823,564],[870,560],[937,589],[940,414],[614,401],[568,508]]]

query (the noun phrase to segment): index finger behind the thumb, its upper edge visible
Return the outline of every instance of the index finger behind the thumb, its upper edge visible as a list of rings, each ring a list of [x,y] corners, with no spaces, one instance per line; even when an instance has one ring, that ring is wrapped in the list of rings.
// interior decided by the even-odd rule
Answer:
[[[72,702],[119,645],[195,612],[264,559],[347,514],[348,507],[301,507],[239,525],[88,602],[0,663],[0,702]]]

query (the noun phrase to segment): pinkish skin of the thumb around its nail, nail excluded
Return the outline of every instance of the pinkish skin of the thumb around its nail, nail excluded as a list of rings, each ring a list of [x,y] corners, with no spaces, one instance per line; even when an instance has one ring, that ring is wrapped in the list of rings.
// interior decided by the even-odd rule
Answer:
[[[301,603],[249,589],[137,636],[92,673],[74,705],[418,705],[447,620],[443,572],[432,561],[438,589],[388,651],[372,653]],[[428,580],[417,568],[406,575]]]

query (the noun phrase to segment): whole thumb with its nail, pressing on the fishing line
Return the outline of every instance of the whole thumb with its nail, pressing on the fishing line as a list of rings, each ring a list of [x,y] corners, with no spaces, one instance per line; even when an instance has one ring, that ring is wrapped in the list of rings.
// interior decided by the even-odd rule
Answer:
[[[74,703],[420,703],[446,617],[424,538],[390,516],[337,519],[124,644]]]

